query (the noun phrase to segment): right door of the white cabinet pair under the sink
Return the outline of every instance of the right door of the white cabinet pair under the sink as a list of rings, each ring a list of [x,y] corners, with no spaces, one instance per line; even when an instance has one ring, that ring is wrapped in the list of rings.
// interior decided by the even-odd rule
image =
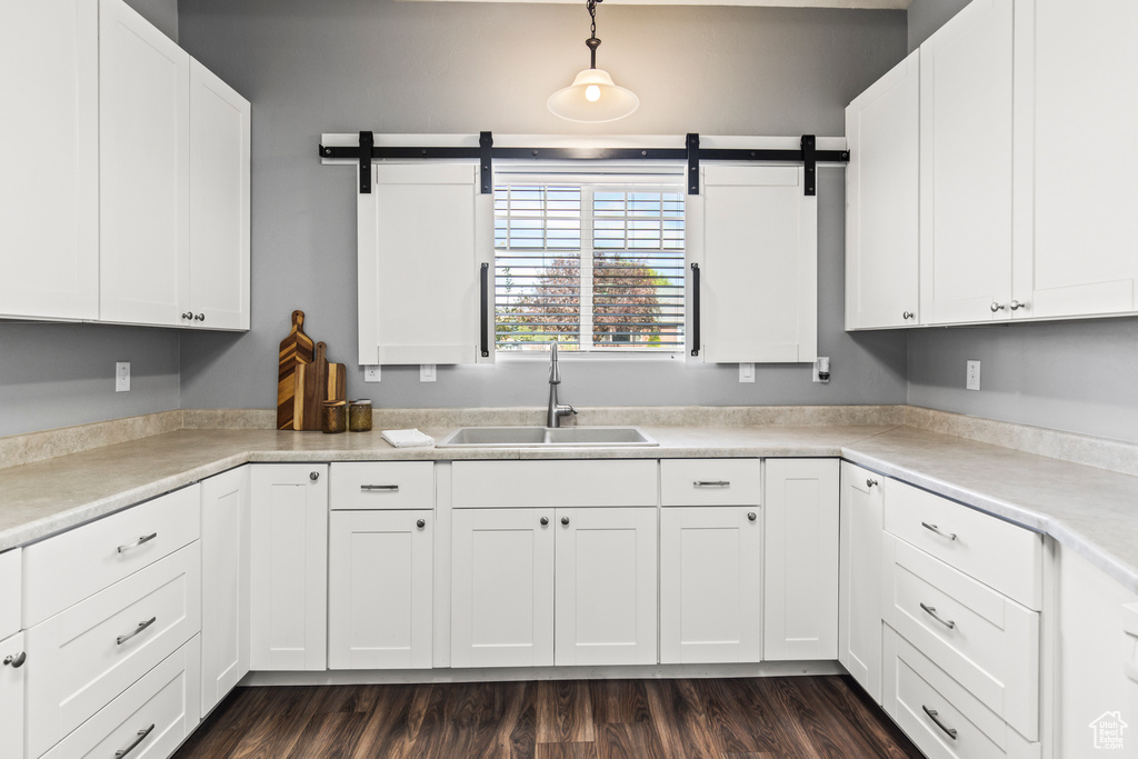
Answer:
[[[553,663],[657,663],[655,512],[556,510]]]

